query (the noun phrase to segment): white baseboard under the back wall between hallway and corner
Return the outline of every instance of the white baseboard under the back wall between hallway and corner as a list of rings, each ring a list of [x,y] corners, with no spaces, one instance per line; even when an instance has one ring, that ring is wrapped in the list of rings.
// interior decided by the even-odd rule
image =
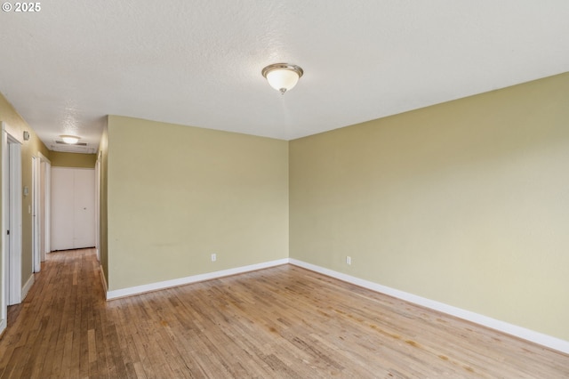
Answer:
[[[208,272],[206,274],[199,274],[186,278],[177,278],[172,280],[165,280],[163,282],[150,283],[148,285],[131,286],[128,288],[116,289],[113,291],[107,291],[107,300],[113,300],[125,296],[132,296],[133,294],[144,294],[159,289],[171,288],[172,286],[183,286],[190,283],[201,282],[204,280],[228,277],[229,275],[241,274],[247,271],[267,269],[269,267],[286,264],[288,262],[289,259],[284,258],[284,259],[279,259],[277,261],[263,262],[263,263],[251,264],[249,266],[237,267],[235,269],[213,271],[213,272]]]

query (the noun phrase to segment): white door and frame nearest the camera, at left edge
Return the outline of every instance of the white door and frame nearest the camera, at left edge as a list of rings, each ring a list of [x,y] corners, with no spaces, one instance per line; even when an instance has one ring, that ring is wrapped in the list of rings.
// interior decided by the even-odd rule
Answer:
[[[7,325],[8,305],[21,302],[21,141],[2,122],[2,298],[0,332]],[[11,212],[12,211],[12,212]],[[10,237],[8,238],[8,230]],[[9,241],[9,242],[8,242]]]

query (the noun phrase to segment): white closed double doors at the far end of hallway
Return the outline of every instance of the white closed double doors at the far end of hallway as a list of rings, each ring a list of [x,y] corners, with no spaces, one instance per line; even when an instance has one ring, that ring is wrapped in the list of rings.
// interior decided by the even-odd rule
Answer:
[[[95,246],[95,170],[51,171],[52,251]]]

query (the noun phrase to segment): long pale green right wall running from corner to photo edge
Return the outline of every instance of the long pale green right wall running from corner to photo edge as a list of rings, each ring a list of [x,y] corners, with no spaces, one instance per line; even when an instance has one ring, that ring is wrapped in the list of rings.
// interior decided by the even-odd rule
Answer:
[[[567,99],[569,74],[291,141],[290,256],[569,340]]]

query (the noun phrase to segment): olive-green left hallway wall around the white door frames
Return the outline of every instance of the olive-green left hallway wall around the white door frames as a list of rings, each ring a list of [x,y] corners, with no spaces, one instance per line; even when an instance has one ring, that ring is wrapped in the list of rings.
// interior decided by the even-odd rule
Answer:
[[[22,257],[21,257],[21,283],[22,286],[33,275],[32,273],[32,215],[29,209],[32,205],[32,157],[37,157],[38,152],[42,153],[44,157],[50,157],[50,151],[45,147],[44,143],[37,138],[34,130],[29,127],[28,123],[20,117],[20,114],[12,107],[2,93],[0,93],[0,121],[4,121],[9,128],[9,132],[14,138],[21,141],[21,188],[22,192],[24,187],[28,187],[28,196],[22,195]],[[28,141],[23,141],[23,133],[28,132],[30,138]],[[2,144],[0,144],[0,160]],[[1,167],[1,165],[0,165]],[[1,181],[0,175],[0,181]],[[0,184],[0,189],[1,189]],[[0,204],[0,206],[2,206]],[[0,236],[2,238],[2,236]],[[1,240],[0,240],[1,242]],[[4,275],[4,270],[0,270],[0,275]],[[0,280],[0,286],[1,286]],[[4,289],[2,289],[4,291]]]

